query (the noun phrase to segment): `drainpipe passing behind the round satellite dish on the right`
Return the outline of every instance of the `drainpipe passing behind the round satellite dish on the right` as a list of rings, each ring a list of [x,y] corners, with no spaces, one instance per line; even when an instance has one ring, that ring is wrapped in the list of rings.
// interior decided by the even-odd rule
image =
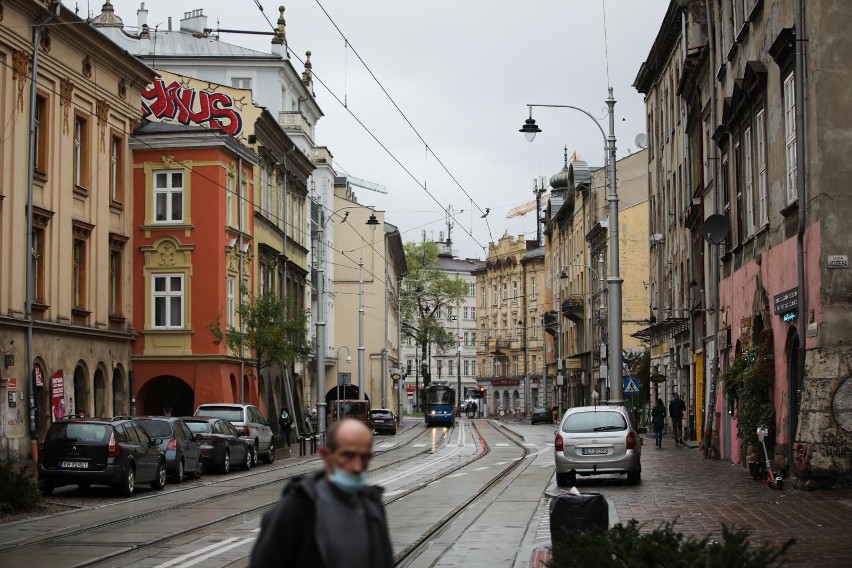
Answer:
[[[717,125],[716,116],[716,83],[713,79],[714,69],[716,67],[715,55],[715,32],[713,31],[713,12],[710,8],[710,2],[705,3],[707,11],[707,47],[709,49],[708,62],[708,77],[710,78],[710,124],[713,128]],[[719,179],[717,176],[718,158],[716,144],[710,144],[710,175],[713,179],[713,213],[718,213],[721,207],[721,193],[719,191]],[[711,444],[713,440],[713,415],[716,413],[716,377],[719,373],[719,246],[710,245],[710,283],[711,290],[711,305],[708,311],[712,310],[713,316],[713,340],[706,341],[706,345],[712,345],[713,349],[706,350],[705,365],[709,369],[707,374],[707,386],[705,392],[707,399],[704,401],[704,436],[703,436],[703,451],[705,457],[711,456]]]

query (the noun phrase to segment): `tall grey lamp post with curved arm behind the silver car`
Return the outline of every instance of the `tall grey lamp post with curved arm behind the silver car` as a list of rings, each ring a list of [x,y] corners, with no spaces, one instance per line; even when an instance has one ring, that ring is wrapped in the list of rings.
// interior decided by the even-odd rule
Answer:
[[[609,360],[609,369],[608,369],[608,382],[610,388],[610,400],[611,404],[623,404],[624,403],[624,385],[622,383],[622,376],[624,373],[623,370],[623,358],[624,355],[622,353],[622,337],[621,337],[621,328],[622,328],[622,319],[621,319],[621,283],[623,282],[622,278],[619,276],[619,246],[618,246],[618,190],[615,187],[615,115],[614,115],[614,107],[615,107],[615,99],[612,96],[612,87],[609,88],[609,97],[606,100],[607,104],[607,114],[609,117],[609,135],[604,132],[603,127],[598,122],[598,119],[592,116],[589,112],[575,106],[571,105],[545,105],[545,104],[528,104],[527,107],[530,109],[530,117],[525,121],[523,127],[521,127],[520,132],[523,132],[526,136],[527,140],[530,142],[533,141],[535,135],[538,132],[541,132],[541,129],[536,125],[535,120],[532,117],[532,109],[533,107],[547,107],[547,108],[569,108],[579,112],[582,112],[586,116],[592,119],[598,129],[601,131],[601,135],[603,135],[604,143],[607,149],[607,185],[609,186],[609,192],[607,195],[607,202],[609,203],[609,277],[607,278],[607,283],[609,285],[609,351],[608,351],[608,360]],[[561,310],[561,306],[560,306]],[[561,314],[560,314],[561,318]],[[561,365],[560,365],[561,366]]]

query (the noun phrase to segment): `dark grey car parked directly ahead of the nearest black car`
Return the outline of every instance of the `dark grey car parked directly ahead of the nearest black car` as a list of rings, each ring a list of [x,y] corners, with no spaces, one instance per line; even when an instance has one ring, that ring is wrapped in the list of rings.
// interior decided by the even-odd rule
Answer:
[[[194,434],[180,418],[171,416],[146,416],[137,422],[151,438],[161,440],[160,449],[166,455],[166,473],[176,483],[192,475],[199,478],[204,473],[201,449]]]

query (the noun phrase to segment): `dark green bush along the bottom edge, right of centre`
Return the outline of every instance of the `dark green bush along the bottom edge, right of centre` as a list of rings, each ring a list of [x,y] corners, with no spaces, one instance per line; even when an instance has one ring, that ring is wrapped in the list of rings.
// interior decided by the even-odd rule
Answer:
[[[795,543],[781,547],[762,544],[753,547],[748,531],[722,525],[722,541],[710,537],[696,539],[675,532],[674,523],[663,523],[652,532],[640,532],[635,520],[617,524],[608,531],[572,534],[565,543],[552,548],[549,568],[608,567],[648,568],[704,566],[724,568],[764,568],[773,565]]]

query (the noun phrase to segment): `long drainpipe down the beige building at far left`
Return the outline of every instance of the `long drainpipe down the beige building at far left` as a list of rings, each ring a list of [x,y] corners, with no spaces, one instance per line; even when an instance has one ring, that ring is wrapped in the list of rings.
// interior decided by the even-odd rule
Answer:
[[[27,165],[27,248],[24,252],[26,262],[26,300],[24,320],[27,322],[27,374],[29,377],[30,406],[30,455],[38,459],[38,425],[35,407],[35,373],[33,372],[33,301],[35,300],[35,274],[33,272],[33,172],[35,170],[35,113],[36,113],[36,77],[38,77],[38,47],[41,43],[41,31],[45,25],[59,17],[62,4],[53,0],[54,12],[33,28],[33,60],[30,73],[30,148]]]

